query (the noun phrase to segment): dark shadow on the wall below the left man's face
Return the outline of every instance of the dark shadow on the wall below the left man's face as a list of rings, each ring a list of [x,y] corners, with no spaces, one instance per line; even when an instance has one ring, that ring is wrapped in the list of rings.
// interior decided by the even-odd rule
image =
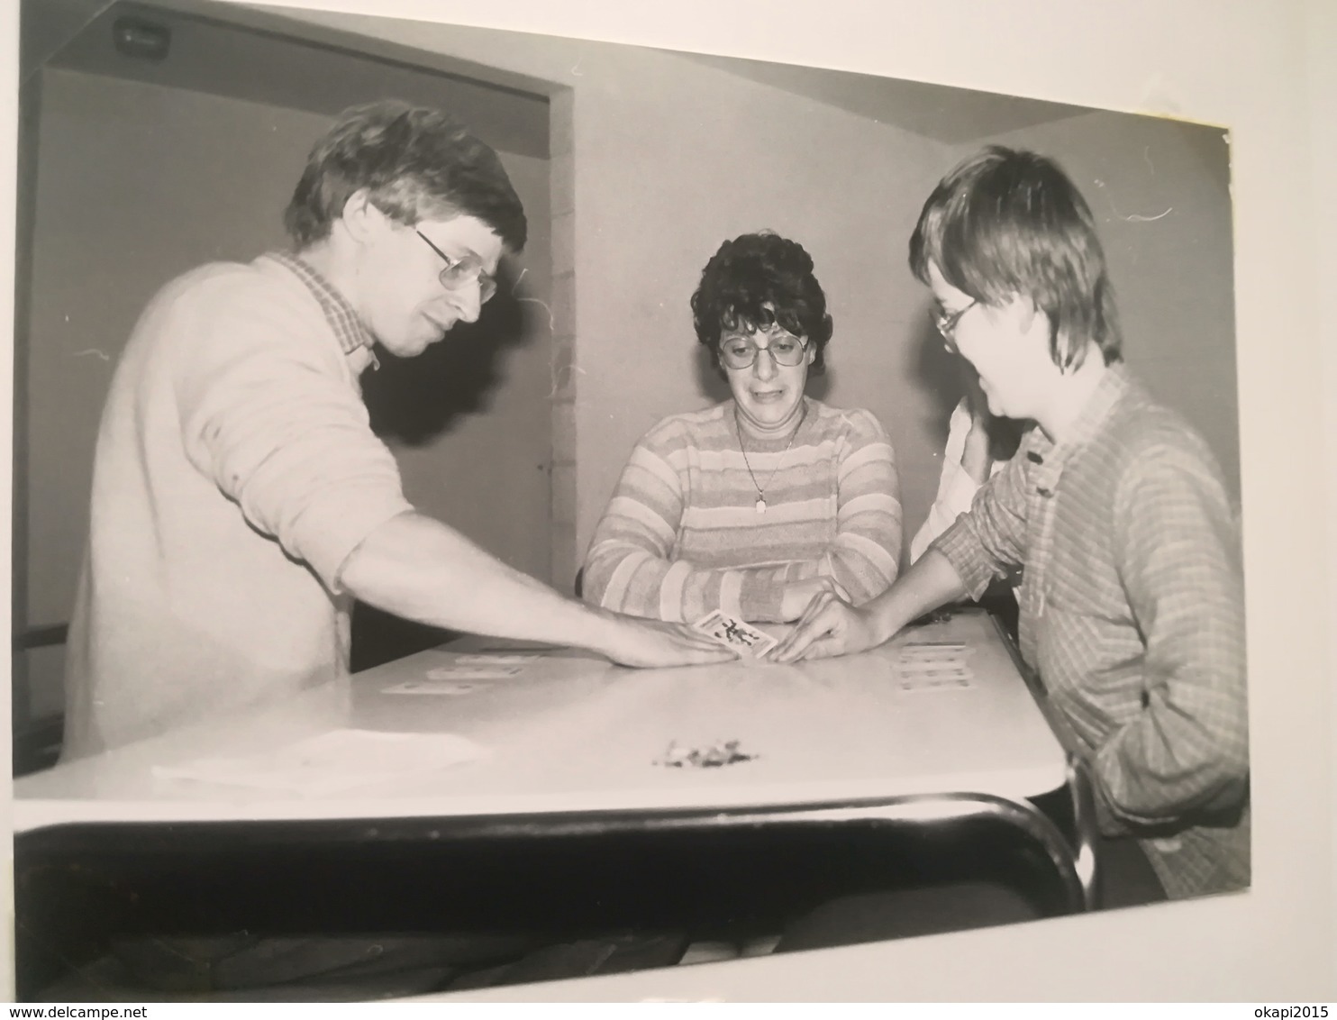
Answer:
[[[461,414],[487,410],[488,394],[501,382],[497,365],[509,348],[528,340],[521,294],[507,263],[497,270],[497,294],[477,322],[461,322],[449,336],[413,358],[378,349],[381,368],[362,376],[362,398],[372,429],[408,447],[431,445]]]

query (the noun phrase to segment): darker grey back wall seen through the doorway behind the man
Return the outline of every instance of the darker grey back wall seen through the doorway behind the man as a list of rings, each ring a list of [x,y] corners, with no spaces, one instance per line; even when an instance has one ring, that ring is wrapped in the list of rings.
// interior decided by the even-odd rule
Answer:
[[[68,620],[87,533],[92,444],[107,382],[144,302],[199,262],[286,243],[282,210],[328,119],[201,92],[47,70],[29,345],[28,620]],[[532,241],[511,269],[547,302],[545,160],[503,155]],[[151,172],[148,172],[151,170]],[[368,402],[425,509],[533,573],[548,564],[547,315],[493,302],[420,364],[381,370],[417,402]],[[493,342],[496,341],[496,342]],[[503,384],[504,380],[504,385]],[[409,413],[417,406],[420,412]],[[499,505],[507,513],[496,513]],[[33,656],[33,714],[60,707],[60,650]]]

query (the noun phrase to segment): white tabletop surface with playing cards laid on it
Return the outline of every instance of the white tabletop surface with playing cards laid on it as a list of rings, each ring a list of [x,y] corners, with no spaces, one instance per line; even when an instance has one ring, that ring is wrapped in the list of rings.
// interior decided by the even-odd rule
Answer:
[[[904,690],[905,642],[960,642],[971,686]],[[1007,646],[983,612],[901,634],[862,655],[797,666],[627,670],[548,651],[516,676],[464,694],[389,694],[424,679],[467,639],[312,691],[249,719],[180,731],[57,766],[15,783],[13,826],[68,822],[412,818],[590,810],[840,803],[971,793],[1020,799],[1066,781],[1066,758]],[[246,755],[337,729],[448,733],[483,755],[378,774],[348,762],[350,785],[302,793],[166,778],[164,766]],[[664,767],[671,741],[738,741],[734,765]],[[341,766],[342,767],[342,766]]]

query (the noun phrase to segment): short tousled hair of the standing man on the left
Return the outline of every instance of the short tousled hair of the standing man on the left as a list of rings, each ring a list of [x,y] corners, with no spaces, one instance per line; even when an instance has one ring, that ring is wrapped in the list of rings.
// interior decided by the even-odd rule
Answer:
[[[437,110],[394,99],[345,110],[312,148],[283,214],[297,246],[329,237],[344,203],[364,187],[400,223],[475,217],[511,251],[524,249],[524,207],[497,154]]]

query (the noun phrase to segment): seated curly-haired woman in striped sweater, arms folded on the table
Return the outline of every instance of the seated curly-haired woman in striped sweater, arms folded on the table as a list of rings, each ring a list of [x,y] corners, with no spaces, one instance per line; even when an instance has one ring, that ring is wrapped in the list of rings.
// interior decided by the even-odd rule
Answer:
[[[687,623],[714,610],[783,623],[824,591],[872,599],[900,560],[896,457],[872,413],[805,396],[832,337],[812,257],[773,233],[726,241],[691,310],[733,396],[636,444],[595,527],[584,598]]]

